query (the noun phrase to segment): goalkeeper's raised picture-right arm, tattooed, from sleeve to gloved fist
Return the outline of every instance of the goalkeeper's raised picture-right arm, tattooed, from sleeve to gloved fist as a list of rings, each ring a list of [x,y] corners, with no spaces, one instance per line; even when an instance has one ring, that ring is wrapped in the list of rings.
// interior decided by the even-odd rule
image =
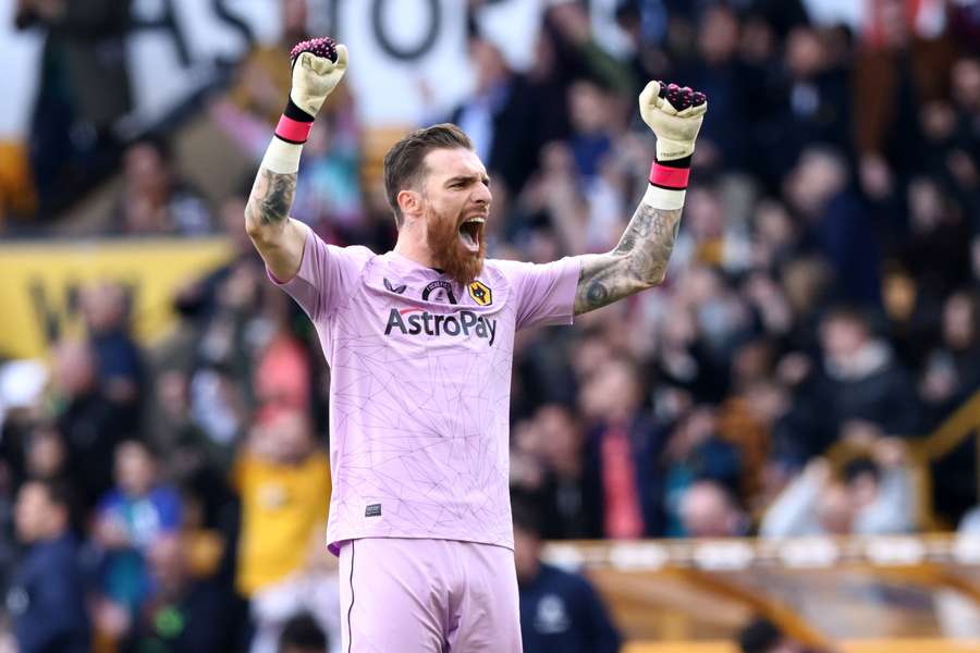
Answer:
[[[615,249],[579,257],[575,315],[663,282],[681,229],[690,158],[708,102],[689,88],[650,82],[639,104],[644,121],[657,134],[650,185]]]

